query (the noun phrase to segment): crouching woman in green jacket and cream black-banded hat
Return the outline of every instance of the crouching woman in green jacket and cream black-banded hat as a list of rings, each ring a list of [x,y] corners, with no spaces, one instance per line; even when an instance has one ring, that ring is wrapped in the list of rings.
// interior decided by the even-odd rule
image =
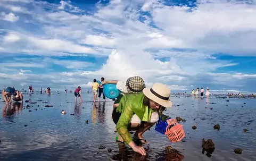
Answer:
[[[146,155],[144,148],[137,146],[134,141],[146,142],[142,134],[159,120],[158,110],[172,106],[170,92],[166,85],[155,83],[152,88],[143,89],[143,93],[127,94],[121,98],[116,109],[121,116],[113,118],[118,119],[115,129],[134,151]],[[133,130],[136,132],[132,138],[129,131]]]

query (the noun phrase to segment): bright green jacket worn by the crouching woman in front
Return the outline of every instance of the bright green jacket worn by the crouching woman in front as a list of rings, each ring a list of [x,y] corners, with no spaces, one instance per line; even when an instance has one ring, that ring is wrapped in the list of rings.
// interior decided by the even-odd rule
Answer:
[[[136,114],[141,121],[148,122],[151,118],[151,113],[154,112],[148,106],[143,105],[144,94],[127,94],[120,100],[117,112],[122,113],[117,126],[117,132],[121,135],[125,143],[129,144],[133,139],[129,131],[127,130],[128,124],[130,123],[131,117]]]

